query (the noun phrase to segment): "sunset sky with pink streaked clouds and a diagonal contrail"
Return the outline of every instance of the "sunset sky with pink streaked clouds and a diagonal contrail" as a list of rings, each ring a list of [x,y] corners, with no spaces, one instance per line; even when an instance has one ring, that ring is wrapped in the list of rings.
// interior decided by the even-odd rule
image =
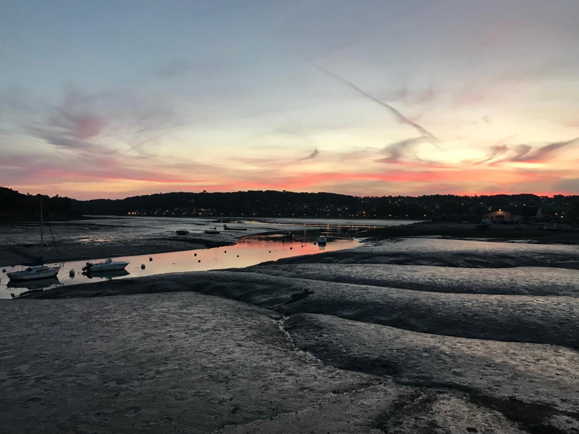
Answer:
[[[0,0],[0,185],[579,194],[579,1]]]

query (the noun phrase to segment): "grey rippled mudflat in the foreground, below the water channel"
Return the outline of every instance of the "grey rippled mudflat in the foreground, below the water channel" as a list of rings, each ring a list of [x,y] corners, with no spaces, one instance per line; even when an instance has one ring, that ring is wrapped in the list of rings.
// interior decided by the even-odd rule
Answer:
[[[408,239],[33,293],[0,303],[2,429],[576,433],[577,260]]]

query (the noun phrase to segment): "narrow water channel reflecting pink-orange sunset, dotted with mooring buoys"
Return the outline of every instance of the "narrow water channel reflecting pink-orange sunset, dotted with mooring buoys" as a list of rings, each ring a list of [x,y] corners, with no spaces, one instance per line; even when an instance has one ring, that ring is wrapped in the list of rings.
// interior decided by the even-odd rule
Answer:
[[[87,259],[69,261],[58,272],[57,278],[42,279],[32,282],[8,282],[6,277],[0,281],[0,298],[10,298],[10,291],[16,296],[27,290],[43,290],[59,285],[74,285],[85,282],[99,282],[105,279],[122,279],[125,277],[148,276],[181,271],[207,271],[228,268],[240,268],[255,265],[268,260],[288,258],[289,256],[312,255],[321,251],[334,251],[356,247],[360,243],[353,239],[329,241],[325,246],[313,244],[312,238],[294,238],[284,241],[283,236],[240,238],[236,245],[197,249],[182,252],[156,253],[153,255],[122,256],[119,259],[131,263],[125,270],[100,271],[81,274],[80,270]],[[152,260],[149,260],[152,258]],[[89,262],[101,262],[106,258],[89,259]],[[141,268],[144,265],[144,268]],[[7,271],[19,270],[17,267],[5,267]],[[74,277],[69,275],[75,270]],[[6,290],[8,289],[8,290]]]

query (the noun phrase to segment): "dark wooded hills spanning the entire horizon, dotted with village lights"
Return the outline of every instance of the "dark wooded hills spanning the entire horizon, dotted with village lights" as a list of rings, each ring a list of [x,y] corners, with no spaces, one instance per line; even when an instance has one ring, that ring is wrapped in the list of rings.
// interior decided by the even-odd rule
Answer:
[[[561,213],[577,220],[579,196],[535,194],[492,196],[347,196],[335,193],[295,193],[256,190],[229,193],[157,193],[124,199],[75,200],[68,197],[21,194],[0,187],[0,216],[35,216],[42,200],[53,218],[85,215],[229,217],[347,217],[475,220],[490,209],[541,207],[545,219]],[[557,213],[557,214],[555,214]]]

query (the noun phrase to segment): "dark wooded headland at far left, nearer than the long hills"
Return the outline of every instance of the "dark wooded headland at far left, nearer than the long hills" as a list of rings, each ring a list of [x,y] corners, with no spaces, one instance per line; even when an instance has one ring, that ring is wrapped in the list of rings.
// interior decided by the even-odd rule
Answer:
[[[45,194],[22,194],[16,190],[0,187],[0,217],[31,218],[40,216],[40,204],[47,218],[78,218],[82,207],[79,201],[69,197],[50,197]]]

